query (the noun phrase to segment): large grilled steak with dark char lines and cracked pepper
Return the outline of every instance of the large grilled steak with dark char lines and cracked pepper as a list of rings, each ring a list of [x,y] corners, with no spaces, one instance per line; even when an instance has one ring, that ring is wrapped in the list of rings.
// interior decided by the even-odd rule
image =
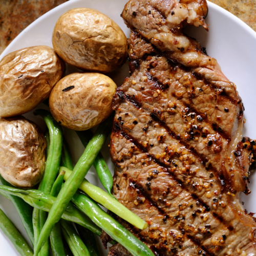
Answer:
[[[155,255],[256,255],[256,224],[239,199],[256,159],[241,98],[181,32],[207,29],[206,14],[204,0],[131,0],[122,13],[131,77],[113,101],[113,194],[148,227],[116,218]],[[109,255],[130,253],[117,244]]]

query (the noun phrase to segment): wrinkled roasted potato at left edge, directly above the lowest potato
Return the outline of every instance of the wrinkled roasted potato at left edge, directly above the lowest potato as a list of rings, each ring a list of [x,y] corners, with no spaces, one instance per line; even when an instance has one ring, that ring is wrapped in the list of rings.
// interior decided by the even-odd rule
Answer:
[[[28,47],[6,55],[0,61],[0,117],[25,114],[46,100],[65,68],[48,46]]]

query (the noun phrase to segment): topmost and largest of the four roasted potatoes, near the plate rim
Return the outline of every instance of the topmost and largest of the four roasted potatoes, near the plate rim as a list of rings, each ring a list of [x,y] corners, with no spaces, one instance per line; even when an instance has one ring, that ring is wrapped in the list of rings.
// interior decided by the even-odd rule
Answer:
[[[52,44],[65,62],[81,70],[109,73],[127,58],[127,38],[120,27],[89,8],[62,14],[53,30]]]

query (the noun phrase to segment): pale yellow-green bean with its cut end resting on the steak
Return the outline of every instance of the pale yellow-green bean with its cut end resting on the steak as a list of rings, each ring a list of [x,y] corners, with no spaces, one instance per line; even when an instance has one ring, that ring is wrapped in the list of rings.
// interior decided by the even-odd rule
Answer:
[[[60,167],[61,172],[65,171],[64,180],[68,180],[69,176],[72,174],[72,171],[66,167]],[[131,223],[139,229],[145,229],[147,223],[140,219],[136,214],[127,209],[122,205],[118,200],[112,198],[108,193],[106,193],[101,188],[91,184],[87,179],[83,179],[79,188],[84,191],[89,197],[91,197],[96,202],[100,203],[107,209],[111,210],[117,216],[121,217],[125,221]]]

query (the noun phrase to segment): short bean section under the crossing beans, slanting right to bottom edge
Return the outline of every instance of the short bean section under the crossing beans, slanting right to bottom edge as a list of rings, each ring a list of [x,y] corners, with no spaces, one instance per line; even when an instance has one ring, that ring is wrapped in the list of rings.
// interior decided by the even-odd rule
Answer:
[[[78,236],[71,222],[60,220],[60,224],[63,236],[69,244],[74,256],[90,256],[86,245],[84,245],[81,238]]]

